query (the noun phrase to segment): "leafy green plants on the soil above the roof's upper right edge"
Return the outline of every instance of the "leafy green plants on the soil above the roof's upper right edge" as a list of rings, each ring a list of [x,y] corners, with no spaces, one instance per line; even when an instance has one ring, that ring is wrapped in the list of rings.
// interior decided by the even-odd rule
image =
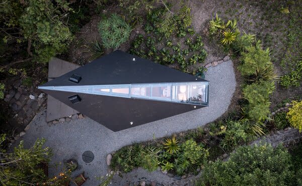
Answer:
[[[132,42],[130,53],[163,65],[177,64],[176,67],[186,73],[203,72],[203,68],[197,71],[188,68],[203,63],[207,55],[202,38],[191,27],[190,11],[186,5],[173,15],[165,7],[152,10],[144,25],[148,36],[139,34]]]

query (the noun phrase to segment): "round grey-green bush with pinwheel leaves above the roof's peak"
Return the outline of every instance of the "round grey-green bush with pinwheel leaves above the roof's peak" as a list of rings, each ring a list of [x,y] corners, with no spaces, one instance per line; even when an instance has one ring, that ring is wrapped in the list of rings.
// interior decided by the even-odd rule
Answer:
[[[98,29],[106,48],[118,48],[129,39],[132,31],[130,25],[116,14],[102,20],[98,25]]]

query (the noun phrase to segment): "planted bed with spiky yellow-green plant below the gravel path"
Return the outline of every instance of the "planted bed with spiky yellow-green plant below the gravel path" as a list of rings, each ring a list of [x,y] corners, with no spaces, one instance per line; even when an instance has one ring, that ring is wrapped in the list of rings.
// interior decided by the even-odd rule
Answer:
[[[203,144],[197,144],[190,139],[178,143],[175,138],[167,139],[164,145],[134,144],[126,146],[113,154],[112,168],[121,169],[124,172],[131,171],[134,167],[143,167],[153,171],[161,167],[163,171],[174,171],[183,175],[189,171],[195,171],[203,164],[208,156],[208,151]]]

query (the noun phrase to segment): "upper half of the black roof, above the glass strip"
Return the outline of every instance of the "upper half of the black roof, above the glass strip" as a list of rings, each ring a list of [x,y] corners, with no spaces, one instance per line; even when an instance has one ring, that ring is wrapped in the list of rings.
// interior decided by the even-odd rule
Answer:
[[[135,61],[132,60],[133,58],[135,58]],[[78,74],[82,77],[80,83],[75,84],[68,80],[73,74]],[[192,81],[205,80],[156,64],[153,61],[131,55],[121,50],[116,50],[93,60],[90,64],[56,78],[55,81],[49,81],[41,85],[41,87]]]

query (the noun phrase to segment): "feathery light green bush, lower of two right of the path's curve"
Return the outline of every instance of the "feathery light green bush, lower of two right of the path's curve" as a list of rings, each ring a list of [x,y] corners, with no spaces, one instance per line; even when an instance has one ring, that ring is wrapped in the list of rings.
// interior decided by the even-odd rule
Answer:
[[[249,104],[245,106],[245,111],[249,119],[263,121],[270,113],[269,95],[274,91],[274,82],[259,81],[247,85],[243,89],[243,96]]]

